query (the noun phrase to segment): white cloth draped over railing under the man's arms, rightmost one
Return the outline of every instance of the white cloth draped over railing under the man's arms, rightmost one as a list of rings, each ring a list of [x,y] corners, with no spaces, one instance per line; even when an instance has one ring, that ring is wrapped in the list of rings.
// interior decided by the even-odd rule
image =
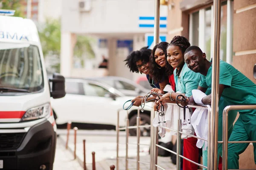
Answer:
[[[197,104],[201,104],[203,96],[206,96],[206,94],[204,94],[200,90],[192,90],[192,95],[193,95],[194,101],[199,102]],[[208,139],[208,111],[207,111],[207,109],[199,109],[199,108],[195,109],[195,111],[193,112],[193,114],[191,116],[191,123],[192,123],[192,126],[194,127],[195,133],[198,137]],[[208,146],[208,142],[198,139],[196,146],[198,148],[202,148],[203,145],[204,145],[203,150],[206,150],[206,148]]]

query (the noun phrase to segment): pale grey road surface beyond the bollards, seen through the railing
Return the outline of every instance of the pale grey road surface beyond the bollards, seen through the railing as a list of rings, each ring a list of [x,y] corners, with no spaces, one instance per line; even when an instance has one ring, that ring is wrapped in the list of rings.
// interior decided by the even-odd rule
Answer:
[[[65,145],[67,141],[67,130],[58,130],[58,140],[60,143]],[[76,144],[76,156],[77,161],[83,165],[83,139],[86,140],[86,167],[87,170],[92,169],[92,152],[95,154],[96,170],[109,170],[110,165],[116,166],[116,131],[114,130],[78,130],[77,131],[77,144]],[[119,170],[125,169],[125,132],[120,132],[119,137]],[[136,169],[136,156],[137,156],[137,145],[136,137],[129,136],[128,146],[128,169]],[[140,161],[147,164],[140,163],[140,169],[149,169],[150,156],[148,154],[150,138],[141,137],[140,144],[148,146],[140,147]],[[65,148],[64,148],[65,150]],[[70,130],[68,150],[70,153],[74,152],[74,135],[73,130]],[[74,157],[74,156],[73,156]],[[166,170],[176,170],[176,166],[171,163],[170,157],[159,157],[158,165]],[[160,169],[160,168],[158,168]]]

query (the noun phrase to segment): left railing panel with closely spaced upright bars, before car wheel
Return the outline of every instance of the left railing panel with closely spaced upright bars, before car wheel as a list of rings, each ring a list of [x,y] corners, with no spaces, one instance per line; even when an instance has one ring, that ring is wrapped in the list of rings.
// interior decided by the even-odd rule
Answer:
[[[119,170],[119,131],[125,130],[126,138],[125,138],[125,170],[128,170],[128,161],[134,161],[132,159],[128,158],[128,145],[133,143],[128,143],[128,137],[129,137],[129,129],[137,129],[137,170],[140,169],[140,163],[141,164],[148,164],[146,162],[140,161],[140,145],[146,145],[146,144],[140,144],[140,128],[142,127],[151,127],[151,125],[140,125],[140,107],[137,109],[137,124],[136,126],[129,126],[129,118],[128,118],[128,111],[127,111],[127,119],[126,119],[126,126],[125,127],[119,127],[119,113],[123,109],[119,109],[117,112],[117,124],[116,124],[116,170]],[[153,109],[154,111],[154,109]],[[151,115],[152,114],[151,111]],[[152,121],[151,121],[152,122]],[[152,128],[151,128],[152,129]]]

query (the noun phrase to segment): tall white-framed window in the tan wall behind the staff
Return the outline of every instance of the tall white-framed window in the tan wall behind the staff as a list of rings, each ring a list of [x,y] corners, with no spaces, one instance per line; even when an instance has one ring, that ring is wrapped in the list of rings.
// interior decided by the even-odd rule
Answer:
[[[199,46],[208,60],[212,58],[212,16],[213,6],[192,13],[189,18],[189,41]],[[227,0],[221,4],[220,35],[220,59],[227,63],[232,63],[232,17],[233,1]]]

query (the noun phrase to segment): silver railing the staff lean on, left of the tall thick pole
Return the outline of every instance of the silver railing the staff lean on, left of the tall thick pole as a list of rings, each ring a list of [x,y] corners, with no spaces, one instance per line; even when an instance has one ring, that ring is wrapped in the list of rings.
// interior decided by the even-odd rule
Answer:
[[[176,105],[176,104],[170,104],[170,105]],[[153,106],[153,103],[152,103],[152,106]],[[205,106],[201,106],[201,105],[188,105],[189,107],[192,107],[192,108],[200,108],[200,109],[207,109],[208,110],[208,113],[211,112],[211,107],[209,105],[205,105]],[[129,126],[129,120],[128,120],[128,112],[127,112],[127,120],[126,120],[126,126],[125,127],[119,127],[119,113],[120,113],[120,110],[122,109],[119,109],[118,112],[117,112],[117,124],[116,124],[116,136],[117,136],[117,147],[116,147],[116,169],[119,170],[119,130],[125,130],[126,132],[126,155],[125,155],[125,170],[128,170],[128,161],[134,161],[134,160],[131,160],[128,158],[128,145],[129,144],[132,144],[132,143],[128,143],[128,137],[129,137],[129,129],[135,129],[137,128],[137,159],[136,159],[136,167],[137,167],[137,170],[140,169],[140,163],[142,164],[150,164],[150,169],[151,170],[156,170],[157,167],[162,169],[162,170],[165,170],[163,167],[160,167],[159,165],[157,165],[157,150],[158,150],[158,147],[170,152],[170,153],[173,153],[177,156],[177,159],[176,159],[176,169],[177,170],[180,170],[180,158],[183,158],[183,159],[186,159],[187,161],[190,161],[194,164],[197,164],[198,166],[201,166],[201,167],[204,167],[204,168],[207,168],[205,167],[204,165],[201,165],[201,164],[198,164],[184,156],[182,156],[180,154],[180,143],[181,143],[181,134],[185,134],[185,135],[188,135],[190,137],[194,137],[194,138],[199,138],[201,140],[204,140],[204,141],[207,141],[207,139],[204,139],[204,138],[200,138],[198,136],[195,136],[195,135],[190,135],[190,134],[187,134],[187,133],[183,133],[182,130],[181,130],[181,119],[178,119],[177,120],[177,130],[174,130],[174,129],[171,129],[171,128],[168,128],[168,127],[162,127],[164,129],[167,129],[167,130],[172,130],[174,132],[177,133],[177,153],[175,153],[174,151],[172,150],[168,150],[167,148],[165,147],[161,147],[160,145],[158,145],[158,130],[157,130],[157,127],[154,127],[152,122],[155,118],[155,111],[154,111],[154,108],[152,107],[151,109],[151,125],[140,125],[140,108],[138,107],[138,112],[137,112],[137,126]],[[180,118],[180,107],[178,107],[178,118]],[[142,162],[140,161],[140,145],[143,145],[143,144],[140,144],[140,128],[141,127],[151,127],[151,140],[150,140],[150,163],[146,163],[146,162]],[[209,135],[208,135],[208,138],[209,138]]]

